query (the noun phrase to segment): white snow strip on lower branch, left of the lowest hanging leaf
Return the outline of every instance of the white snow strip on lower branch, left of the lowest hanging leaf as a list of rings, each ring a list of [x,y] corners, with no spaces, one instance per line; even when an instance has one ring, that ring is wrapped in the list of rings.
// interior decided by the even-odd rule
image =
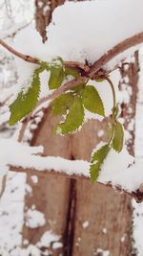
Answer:
[[[78,174],[88,176],[89,163],[83,160],[67,160],[62,157],[38,156],[42,147],[30,147],[22,145],[13,140],[0,139],[0,161],[2,164],[11,166],[23,166],[39,171],[55,170],[59,173],[65,172],[68,175]],[[16,151],[16,158],[15,158]],[[55,161],[56,160],[56,161]],[[36,174],[36,173],[35,173]]]

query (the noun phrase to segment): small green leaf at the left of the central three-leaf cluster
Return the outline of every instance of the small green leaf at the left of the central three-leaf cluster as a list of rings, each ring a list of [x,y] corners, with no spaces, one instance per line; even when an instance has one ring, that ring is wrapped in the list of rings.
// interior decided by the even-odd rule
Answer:
[[[53,115],[64,115],[73,101],[72,92],[60,95],[51,103],[51,113]]]

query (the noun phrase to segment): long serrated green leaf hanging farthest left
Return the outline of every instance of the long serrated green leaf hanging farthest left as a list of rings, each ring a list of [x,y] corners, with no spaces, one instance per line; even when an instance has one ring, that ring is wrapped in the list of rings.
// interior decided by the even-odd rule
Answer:
[[[10,105],[10,126],[20,121],[28,115],[38,101],[40,92],[39,72],[34,71],[31,86],[25,93],[23,90],[19,92],[17,99]]]

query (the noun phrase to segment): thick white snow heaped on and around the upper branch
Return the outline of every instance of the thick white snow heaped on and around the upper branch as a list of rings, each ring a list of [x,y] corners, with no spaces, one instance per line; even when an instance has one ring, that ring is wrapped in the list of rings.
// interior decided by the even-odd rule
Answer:
[[[61,57],[81,62],[87,59],[93,63],[117,43],[143,31],[142,10],[142,0],[66,2],[52,13],[45,44],[40,35],[28,26],[15,36],[14,48],[45,61]],[[116,58],[112,64],[127,54],[131,51]],[[16,62],[20,80],[23,84],[30,81],[37,65],[18,58]]]

